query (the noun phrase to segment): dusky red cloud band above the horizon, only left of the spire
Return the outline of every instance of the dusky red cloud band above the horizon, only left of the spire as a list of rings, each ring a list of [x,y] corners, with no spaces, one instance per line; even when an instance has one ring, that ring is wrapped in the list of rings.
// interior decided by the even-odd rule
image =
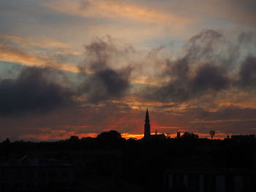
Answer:
[[[13,139],[68,139],[70,135],[86,137],[115,129],[120,133],[143,133],[144,112],[132,110],[124,104],[101,106],[60,107],[46,113],[31,112],[29,115],[0,115],[0,140]],[[86,125],[86,126],[85,126]],[[42,136],[42,137],[41,137]],[[48,137],[48,138],[47,138]]]

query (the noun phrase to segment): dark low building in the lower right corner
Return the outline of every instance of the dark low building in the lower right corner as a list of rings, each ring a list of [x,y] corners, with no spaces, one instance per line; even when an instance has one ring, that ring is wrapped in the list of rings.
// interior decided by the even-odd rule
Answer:
[[[184,169],[165,172],[165,191],[252,192],[256,191],[255,170]]]

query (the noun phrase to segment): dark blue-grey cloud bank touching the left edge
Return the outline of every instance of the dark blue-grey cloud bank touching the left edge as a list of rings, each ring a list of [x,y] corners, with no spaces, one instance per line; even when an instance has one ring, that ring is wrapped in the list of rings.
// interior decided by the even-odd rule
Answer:
[[[26,67],[17,79],[1,80],[0,114],[45,112],[71,104],[72,93],[56,78],[59,74],[50,67]]]

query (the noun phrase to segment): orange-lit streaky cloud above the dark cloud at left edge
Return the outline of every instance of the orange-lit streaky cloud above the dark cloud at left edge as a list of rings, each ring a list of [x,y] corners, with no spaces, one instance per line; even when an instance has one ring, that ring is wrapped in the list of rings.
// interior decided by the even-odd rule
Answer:
[[[0,61],[26,66],[54,66],[64,71],[78,72],[76,66],[67,63],[74,55],[78,56],[78,53],[61,42],[0,34]]]

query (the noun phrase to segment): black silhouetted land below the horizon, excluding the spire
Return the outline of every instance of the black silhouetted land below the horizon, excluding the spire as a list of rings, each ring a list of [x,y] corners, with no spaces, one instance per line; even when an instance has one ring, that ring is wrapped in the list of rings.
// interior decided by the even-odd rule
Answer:
[[[256,191],[255,140],[2,142],[1,191]]]

